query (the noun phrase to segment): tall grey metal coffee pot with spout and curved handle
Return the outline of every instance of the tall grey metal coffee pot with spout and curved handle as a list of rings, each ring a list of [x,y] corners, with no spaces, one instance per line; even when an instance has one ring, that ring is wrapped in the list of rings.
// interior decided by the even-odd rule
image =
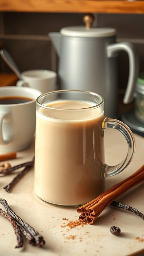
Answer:
[[[49,33],[59,56],[60,89],[86,90],[102,95],[105,115],[117,119],[117,54],[124,50],[129,56],[125,104],[133,99],[138,77],[138,56],[134,45],[116,43],[116,29],[87,27],[65,27],[60,33]]]

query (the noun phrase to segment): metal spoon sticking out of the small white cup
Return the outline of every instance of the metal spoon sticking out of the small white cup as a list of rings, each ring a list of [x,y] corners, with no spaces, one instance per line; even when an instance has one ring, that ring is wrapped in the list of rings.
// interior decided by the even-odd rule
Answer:
[[[7,65],[14,71],[14,73],[17,75],[19,80],[23,80],[21,72],[19,68],[17,67],[16,63],[12,59],[12,57],[9,55],[9,53],[6,50],[1,50],[0,54],[3,58],[3,60],[7,63]]]

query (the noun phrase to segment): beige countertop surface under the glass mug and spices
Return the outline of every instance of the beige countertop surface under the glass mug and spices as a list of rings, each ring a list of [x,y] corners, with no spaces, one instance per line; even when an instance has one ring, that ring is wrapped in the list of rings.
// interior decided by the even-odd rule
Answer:
[[[106,188],[110,188],[124,178],[134,173],[144,163],[144,138],[135,135],[136,153],[124,172],[106,180]],[[127,152],[125,138],[114,129],[105,131],[106,163],[119,163]],[[30,161],[34,156],[34,143],[26,151],[19,152],[18,158],[9,161],[12,166]],[[37,198],[33,191],[34,168],[23,177],[7,193],[3,187],[7,185],[15,174],[0,177],[0,198],[7,200],[9,206],[26,222],[42,234],[46,244],[43,248],[36,248],[25,241],[24,248],[15,249],[16,236],[7,219],[0,216],[0,255],[90,255],[90,256],[125,256],[144,248],[144,242],[135,238],[144,239],[143,220],[128,211],[108,207],[99,216],[94,225],[85,225],[68,230],[63,218],[77,220],[76,208],[62,208],[47,204]],[[128,204],[144,213],[144,186],[143,183],[131,189],[117,201]],[[3,208],[3,206],[0,205]],[[4,209],[4,208],[3,208]],[[116,237],[110,233],[111,226],[118,226],[121,235]],[[67,239],[74,235],[75,239]],[[144,254],[141,254],[144,255]]]

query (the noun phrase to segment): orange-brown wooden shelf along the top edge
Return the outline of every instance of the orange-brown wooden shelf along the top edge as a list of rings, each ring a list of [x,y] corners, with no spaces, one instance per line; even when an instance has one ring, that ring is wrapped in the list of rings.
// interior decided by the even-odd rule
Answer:
[[[144,14],[144,0],[1,0],[0,11]]]

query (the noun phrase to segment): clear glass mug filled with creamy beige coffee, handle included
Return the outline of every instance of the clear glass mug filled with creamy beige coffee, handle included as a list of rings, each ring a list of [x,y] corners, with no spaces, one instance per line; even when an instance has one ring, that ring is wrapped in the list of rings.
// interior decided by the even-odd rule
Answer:
[[[105,163],[104,129],[120,131],[128,154],[116,166]],[[122,172],[135,152],[124,123],[104,116],[104,99],[92,92],[64,90],[41,95],[36,106],[36,195],[52,204],[78,206],[104,190],[104,179]]]

